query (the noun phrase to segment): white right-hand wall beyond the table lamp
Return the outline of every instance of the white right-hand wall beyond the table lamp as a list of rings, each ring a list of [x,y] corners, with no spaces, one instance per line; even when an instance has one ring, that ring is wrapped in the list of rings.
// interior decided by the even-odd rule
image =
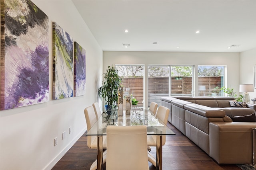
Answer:
[[[254,65],[256,65],[256,48],[240,53],[240,84],[253,84]],[[249,95],[250,99],[256,98],[256,89]]]

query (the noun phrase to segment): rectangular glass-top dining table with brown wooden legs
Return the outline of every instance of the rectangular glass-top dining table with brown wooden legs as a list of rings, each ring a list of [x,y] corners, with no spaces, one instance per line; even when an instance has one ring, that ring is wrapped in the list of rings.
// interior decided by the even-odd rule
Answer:
[[[150,111],[132,109],[129,115],[125,111],[118,116],[117,110],[111,113],[102,113],[102,116],[89,129],[86,135],[97,136],[97,169],[103,170],[103,136],[106,135],[107,126],[138,126],[146,125],[148,135],[156,135],[156,170],[162,170],[162,136],[175,135],[160,119]]]

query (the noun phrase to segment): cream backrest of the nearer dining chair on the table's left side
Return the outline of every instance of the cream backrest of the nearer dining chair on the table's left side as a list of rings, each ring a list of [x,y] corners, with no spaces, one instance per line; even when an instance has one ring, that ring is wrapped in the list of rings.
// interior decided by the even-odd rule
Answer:
[[[94,108],[92,106],[88,106],[84,109],[84,116],[86,119],[87,131],[91,129],[92,125],[96,123],[97,118],[94,113]],[[87,136],[87,146],[91,148],[92,141],[94,141],[96,136]],[[94,146],[95,147],[95,146]]]

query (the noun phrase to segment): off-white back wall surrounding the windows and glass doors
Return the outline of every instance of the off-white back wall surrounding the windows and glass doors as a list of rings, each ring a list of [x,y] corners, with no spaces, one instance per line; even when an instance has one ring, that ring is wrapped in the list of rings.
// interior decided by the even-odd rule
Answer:
[[[103,71],[109,65],[115,64],[184,64],[195,65],[225,65],[227,66],[227,87],[239,92],[239,53],[189,53],[189,52],[103,52]],[[147,73],[145,73],[147,86]],[[196,85],[195,85],[196,86]],[[196,86],[197,87],[197,86]],[[197,89],[197,88],[196,88]],[[148,103],[148,92],[144,92],[144,103]],[[145,107],[145,106],[144,106]]]

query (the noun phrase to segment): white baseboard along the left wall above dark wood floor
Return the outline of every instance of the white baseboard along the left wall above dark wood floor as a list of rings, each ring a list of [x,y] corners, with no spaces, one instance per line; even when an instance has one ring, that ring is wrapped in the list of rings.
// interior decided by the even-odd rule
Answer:
[[[78,133],[78,135],[76,135],[76,137],[66,146],[66,148],[64,148],[60,154],[58,154],[53,160],[52,162],[50,162],[48,165],[46,165],[46,167],[44,168],[44,170],[51,170],[54,165],[62,158],[62,156],[64,156],[64,154],[66,154],[66,152],[68,152],[68,150],[76,143],[76,141],[78,141],[78,139],[85,133],[87,129],[84,128],[80,133]]]

